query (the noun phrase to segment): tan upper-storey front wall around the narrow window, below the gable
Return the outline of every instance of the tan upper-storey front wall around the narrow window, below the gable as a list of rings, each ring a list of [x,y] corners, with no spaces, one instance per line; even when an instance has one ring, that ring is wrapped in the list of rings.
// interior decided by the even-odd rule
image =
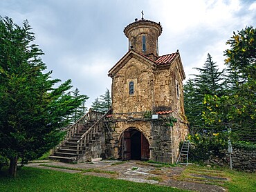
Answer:
[[[152,111],[154,75],[152,66],[140,59],[130,59],[113,77],[112,108],[113,116],[118,113]],[[129,82],[134,82],[134,94],[129,95]],[[117,115],[117,116],[116,116]]]

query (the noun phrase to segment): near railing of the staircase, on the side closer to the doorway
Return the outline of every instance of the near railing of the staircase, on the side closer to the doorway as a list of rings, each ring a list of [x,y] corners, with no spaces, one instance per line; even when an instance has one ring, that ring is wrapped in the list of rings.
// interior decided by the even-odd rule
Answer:
[[[81,137],[80,140],[77,141],[77,155],[79,155],[80,151],[84,152],[84,148],[86,144],[93,138],[93,135],[102,132],[102,128],[104,127],[104,119],[107,115],[111,113],[111,109],[107,111],[100,119],[98,119],[93,126],[91,126]]]

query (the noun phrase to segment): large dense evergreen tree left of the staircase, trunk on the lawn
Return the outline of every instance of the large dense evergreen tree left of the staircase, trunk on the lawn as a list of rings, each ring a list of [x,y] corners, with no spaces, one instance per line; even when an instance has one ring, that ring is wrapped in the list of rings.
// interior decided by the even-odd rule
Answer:
[[[60,142],[60,128],[68,124],[82,100],[66,94],[71,80],[55,88],[60,79],[44,73],[44,52],[33,44],[28,21],[23,26],[0,17],[0,151],[10,160],[9,173],[35,160]]]

